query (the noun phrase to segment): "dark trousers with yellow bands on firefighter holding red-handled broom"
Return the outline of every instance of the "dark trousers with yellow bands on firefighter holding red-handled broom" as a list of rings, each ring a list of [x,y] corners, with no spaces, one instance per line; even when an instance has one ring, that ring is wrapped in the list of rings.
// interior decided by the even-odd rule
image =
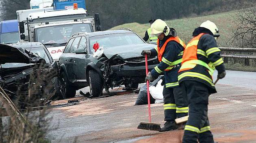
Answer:
[[[183,98],[182,88],[180,86],[175,88],[164,87],[163,97],[165,121],[174,121],[176,118],[188,115],[189,107]]]

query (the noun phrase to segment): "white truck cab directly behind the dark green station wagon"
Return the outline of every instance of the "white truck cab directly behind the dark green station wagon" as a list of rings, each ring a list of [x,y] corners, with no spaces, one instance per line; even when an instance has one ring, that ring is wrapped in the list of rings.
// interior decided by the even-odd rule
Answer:
[[[29,42],[45,44],[56,61],[73,34],[101,30],[99,14],[83,8],[30,13],[26,23]]]

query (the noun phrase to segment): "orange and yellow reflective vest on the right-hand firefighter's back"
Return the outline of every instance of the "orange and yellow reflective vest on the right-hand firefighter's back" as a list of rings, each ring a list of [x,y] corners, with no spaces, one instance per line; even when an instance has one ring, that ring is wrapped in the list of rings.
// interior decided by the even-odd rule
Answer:
[[[197,54],[203,55],[204,57],[208,57],[206,52],[204,52],[201,49],[197,49],[197,44],[199,42],[199,39],[204,35],[204,33],[199,34],[198,36],[195,36],[189,44],[187,44],[186,49],[184,50],[184,56],[182,57],[182,66],[180,67],[180,71],[186,71],[193,69],[196,65],[202,65],[208,69],[208,72],[210,76],[213,75],[215,66],[213,63],[205,63],[204,61],[197,59]],[[197,51],[197,53],[195,53]]]

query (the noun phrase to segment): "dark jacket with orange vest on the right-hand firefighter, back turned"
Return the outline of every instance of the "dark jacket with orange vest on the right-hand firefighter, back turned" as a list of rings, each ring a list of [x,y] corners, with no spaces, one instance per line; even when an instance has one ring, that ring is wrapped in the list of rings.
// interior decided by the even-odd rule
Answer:
[[[225,71],[221,50],[217,47],[213,34],[206,30],[196,29],[194,38],[187,44],[182,57],[178,80],[194,80],[206,84],[210,94],[216,93],[212,74],[216,68],[218,73]]]

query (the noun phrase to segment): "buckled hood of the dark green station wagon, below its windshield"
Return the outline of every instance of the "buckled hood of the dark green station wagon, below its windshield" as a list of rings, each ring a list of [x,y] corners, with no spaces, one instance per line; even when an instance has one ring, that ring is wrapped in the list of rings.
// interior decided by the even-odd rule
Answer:
[[[154,48],[154,44],[134,44],[125,46],[115,46],[111,48],[104,48],[104,55],[111,59],[114,56],[119,56],[122,59],[128,59],[132,57],[140,57],[142,50],[150,50]]]

